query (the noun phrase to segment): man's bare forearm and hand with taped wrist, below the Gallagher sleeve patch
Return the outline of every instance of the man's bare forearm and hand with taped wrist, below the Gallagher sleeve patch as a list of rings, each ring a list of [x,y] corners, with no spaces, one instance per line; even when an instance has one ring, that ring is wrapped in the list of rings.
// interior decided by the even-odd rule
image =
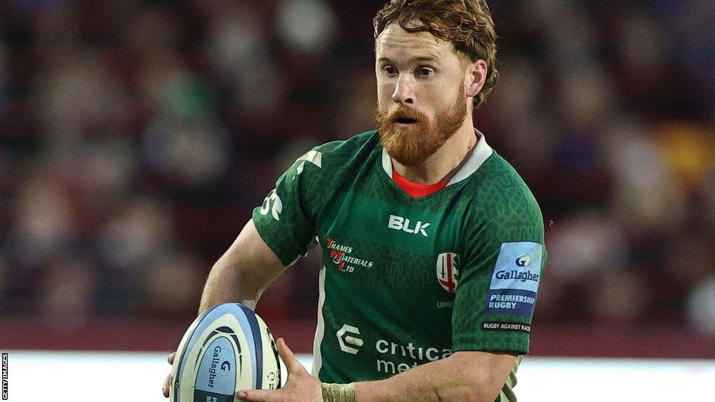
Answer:
[[[237,396],[252,402],[324,401],[320,381],[298,363],[282,339],[276,344],[288,371],[285,387],[273,391],[244,390]],[[457,352],[385,380],[355,383],[354,401],[493,402],[514,363],[516,356],[509,353]],[[349,386],[339,386],[325,402],[352,402],[345,388]]]

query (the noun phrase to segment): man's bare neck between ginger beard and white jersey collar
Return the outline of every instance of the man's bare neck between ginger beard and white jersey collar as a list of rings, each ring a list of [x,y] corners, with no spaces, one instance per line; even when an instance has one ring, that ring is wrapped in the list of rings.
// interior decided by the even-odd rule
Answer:
[[[450,137],[440,149],[430,155],[425,162],[415,166],[405,166],[392,157],[393,167],[410,182],[431,185],[453,176],[477,144],[471,116],[465,119],[462,127]]]

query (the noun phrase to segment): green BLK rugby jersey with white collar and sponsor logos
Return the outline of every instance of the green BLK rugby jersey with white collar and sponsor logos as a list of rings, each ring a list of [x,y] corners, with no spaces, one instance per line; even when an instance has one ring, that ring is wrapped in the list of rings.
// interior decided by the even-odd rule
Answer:
[[[375,131],[329,142],[253,212],[283,264],[322,247],[313,374],[350,383],[460,350],[528,353],[546,249],[521,177],[483,136],[433,195],[410,197],[392,172]],[[516,366],[498,400],[516,400]]]

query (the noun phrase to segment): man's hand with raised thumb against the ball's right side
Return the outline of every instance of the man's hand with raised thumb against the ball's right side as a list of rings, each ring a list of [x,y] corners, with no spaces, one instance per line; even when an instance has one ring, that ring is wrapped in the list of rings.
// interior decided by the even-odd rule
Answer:
[[[237,396],[252,402],[323,402],[320,381],[310,376],[298,363],[283,338],[278,338],[276,344],[288,371],[285,387],[272,391],[260,389],[239,391]]]

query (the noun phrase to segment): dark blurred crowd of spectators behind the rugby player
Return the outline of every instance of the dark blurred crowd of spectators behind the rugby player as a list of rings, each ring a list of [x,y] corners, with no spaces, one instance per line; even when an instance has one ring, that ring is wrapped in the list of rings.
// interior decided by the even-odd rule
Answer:
[[[715,1],[489,3],[475,127],[543,210],[536,323],[715,334]],[[0,318],[193,318],[292,161],[374,127],[382,4],[0,1]],[[315,319],[318,258],[264,318]]]

